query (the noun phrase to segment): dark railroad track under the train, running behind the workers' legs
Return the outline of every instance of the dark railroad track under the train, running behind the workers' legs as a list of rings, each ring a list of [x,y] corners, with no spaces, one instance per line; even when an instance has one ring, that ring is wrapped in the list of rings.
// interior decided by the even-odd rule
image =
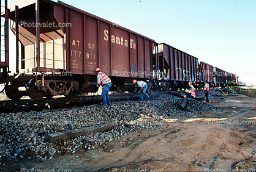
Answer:
[[[156,98],[157,93],[149,93],[149,99]],[[138,95],[110,95],[111,102],[136,101]],[[0,101],[0,113],[29,112],[31,110],[41,111],[43,109],[62,109],[73,106],[88,106],[100,104],[102,96],[78,96],[77,98],[53,98],[53,99],[22,99],[19,101]]]

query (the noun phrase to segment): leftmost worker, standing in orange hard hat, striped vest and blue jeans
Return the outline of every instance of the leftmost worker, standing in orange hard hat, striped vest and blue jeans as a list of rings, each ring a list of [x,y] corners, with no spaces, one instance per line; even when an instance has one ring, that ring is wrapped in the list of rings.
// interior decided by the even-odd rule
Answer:
[[[97,87],[100,84],[103,86],[102,98],[104,105],[110,105],[110,97],[108,96],[108,91],[111,87],[111,79],[104,72],[100,71],[100,68],[96,68],[95,73],[97,73]]]

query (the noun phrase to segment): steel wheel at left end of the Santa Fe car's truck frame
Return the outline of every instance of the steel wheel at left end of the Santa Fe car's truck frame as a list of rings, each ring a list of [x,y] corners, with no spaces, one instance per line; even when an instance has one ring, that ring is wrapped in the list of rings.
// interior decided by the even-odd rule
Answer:
[[[26,85],[26,91],[29,98],[36,100],[42,99],[48,94],[47,92],[37,90],[35,77],[28,81],[28,84]]]

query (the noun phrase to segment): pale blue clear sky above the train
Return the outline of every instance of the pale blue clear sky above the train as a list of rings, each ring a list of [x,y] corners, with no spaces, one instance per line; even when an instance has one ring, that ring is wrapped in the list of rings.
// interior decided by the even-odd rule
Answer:
[[[247,85],[256,85],[254,0],[62,2],[127,27],[157,43],[167,43],[203,62],[237,74],[238,80]]]

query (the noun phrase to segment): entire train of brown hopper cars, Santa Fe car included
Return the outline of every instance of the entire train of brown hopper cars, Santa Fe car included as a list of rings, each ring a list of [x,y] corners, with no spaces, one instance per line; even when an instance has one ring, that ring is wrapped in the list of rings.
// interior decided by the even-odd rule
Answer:
[[[186,88],[188,81],[198,87],[203,81],[222,87],[238,84],[235,74],[64,2],[18,0],[8,8],[5,3],[0,84],[6,83],[10,99],[24,95],[72,98],[95,92],[97,67],[110,76],[112,91],[132,90],[133,79],[147,81],[149,89],[164,90]],[[12,75],[8,74],[9,20],[16,36],[16,72]]]

